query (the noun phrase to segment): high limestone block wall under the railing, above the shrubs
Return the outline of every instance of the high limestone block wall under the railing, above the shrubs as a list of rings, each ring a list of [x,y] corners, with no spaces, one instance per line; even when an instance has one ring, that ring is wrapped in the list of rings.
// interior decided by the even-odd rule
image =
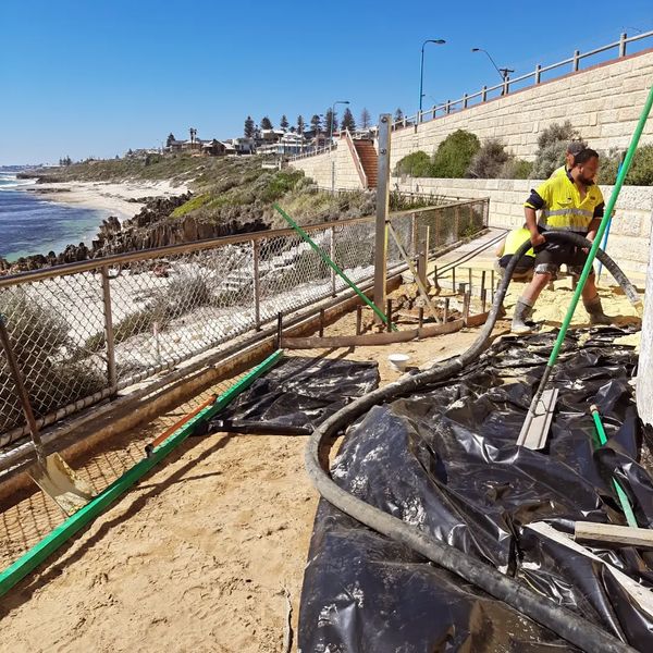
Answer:
[[[590,146],[626,149],[653,79],[653,50],[599,64],[510,93],[489,102],[392,133],[391,165],[416,150],[432,153],[456,130],[481,140],[500,138],[519,158],[532,160],[538,135],[569,120]],[[653,143],[649,121],[641,144]]]

